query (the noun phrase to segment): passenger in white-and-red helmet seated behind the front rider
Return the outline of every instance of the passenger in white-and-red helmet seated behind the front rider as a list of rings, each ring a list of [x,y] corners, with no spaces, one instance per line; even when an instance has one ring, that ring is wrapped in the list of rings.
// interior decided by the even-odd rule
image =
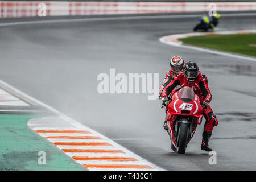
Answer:
[[[177,73],[180,73],[183,71],[183,65],[185,61],[180,56],[174,56],[170,60],[170,66],[171,69],[167,71],[166,76],[164,77],[163,84],[160,86],[159,89],[159,98],[161,98],[161,94],[163,92],[163,89],[170,84],[172,79],[175,77]],[[164,120],[164,129],[167,130],[167,122]]]

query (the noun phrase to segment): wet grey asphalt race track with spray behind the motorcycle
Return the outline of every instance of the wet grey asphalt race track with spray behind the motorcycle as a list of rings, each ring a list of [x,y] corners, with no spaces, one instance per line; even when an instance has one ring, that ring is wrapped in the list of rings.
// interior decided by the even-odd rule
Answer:
[[[158,40],[191,32],[198,18],[1,27],[0,78],[164,169],[255,170],[256,62],[171,47]],[[256,28],[255,18],[223,17],[216,30]],[[217,152],[216,165],[209,165],[207,152],[200,150],[203,125],[187,154],[177,155],[162,127],[159,100],[147,100],[147,94],[97,92],[98,74],[110,74],[110,68],[116,73],[159,73],[160,84],[172,55],[196,60],[207,74],[211,106],[220,120],[210,140]]]

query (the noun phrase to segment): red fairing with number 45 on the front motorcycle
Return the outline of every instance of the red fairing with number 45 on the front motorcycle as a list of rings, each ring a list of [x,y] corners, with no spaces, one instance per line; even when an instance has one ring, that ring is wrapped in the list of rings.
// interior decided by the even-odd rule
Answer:
[[[178,89],[172,95],[172,102],[166,107],[166,121],[168,125],[168,133],[170,135],[170,139],[172,143],[177,147],[176,139],[174,136],[174,123],[176,118],[179,115],[187,115],[192,117],[193,126],[192,126],[192,135],[196,131],[197,124],[201,124],[203,107],[200,105],[200,98],[195,94],[195,92],[191,91],[192,88],[184,87],[182,89]],[[191,139],[189,138],[189,140]]]

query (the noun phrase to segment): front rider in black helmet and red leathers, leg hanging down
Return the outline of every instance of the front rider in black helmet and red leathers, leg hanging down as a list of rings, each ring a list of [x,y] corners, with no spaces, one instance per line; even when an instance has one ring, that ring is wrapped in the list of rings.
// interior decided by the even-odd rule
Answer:
[[[188,61],[185,63],[183,73],[178,73],[162,91],[161,96],[164,106],[171,103],[172,100],[169,96],[178,85],[181,87],[189,86],[193,88],[195,94],[200,97],[200,102],[204,109],[203,115],[206,119],[201,150],[212,151],[212,149],[209,148],[208,142],[210,136],[212,135],[213,127],[218,125],[218,120],[216,115],[213,114],[212,108],[209,105],[210,101],[212,100],[212,94],[208,88],[207,77],[204,75],[204,73],[199,71],[199,67],[195,62]]]

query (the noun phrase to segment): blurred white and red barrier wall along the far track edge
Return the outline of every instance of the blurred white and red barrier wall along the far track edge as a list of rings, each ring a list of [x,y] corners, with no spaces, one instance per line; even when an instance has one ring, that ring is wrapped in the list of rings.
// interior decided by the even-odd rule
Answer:
[[[41,4],[39,7],[39,3]],[[1,1],[1,17],[172,13],[208,11],[210,2],[54,2]],[[45,5],[45,6],[42,6]],[[44,8],[45,7],[45,8]],[[217,11],[256,10],[256,2],[217,2]]]

